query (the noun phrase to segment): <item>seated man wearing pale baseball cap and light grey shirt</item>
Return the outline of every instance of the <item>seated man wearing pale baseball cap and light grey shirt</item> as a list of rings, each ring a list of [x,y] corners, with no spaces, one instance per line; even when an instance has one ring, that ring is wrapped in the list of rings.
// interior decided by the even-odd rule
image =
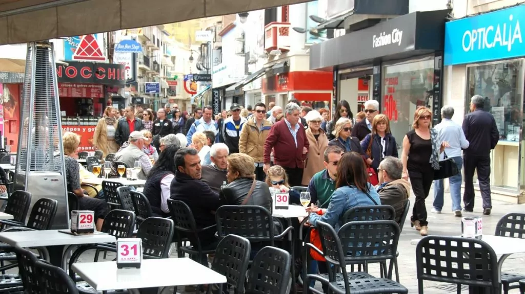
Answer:
[[[121,161],[128,167],[133,167],[135,166],[135,161],[140,161],[142,168],[139,173],[139,179],[146,179],[146,175],[151,169],[150,157],[142,151],[144,139],[145,137],[140,131],[131,132],[129,145],[115,154],[115,161]]]

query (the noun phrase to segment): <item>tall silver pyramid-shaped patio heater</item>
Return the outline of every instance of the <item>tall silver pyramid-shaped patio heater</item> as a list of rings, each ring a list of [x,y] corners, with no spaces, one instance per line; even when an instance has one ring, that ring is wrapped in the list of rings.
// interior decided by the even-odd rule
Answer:
[[[27,44],[14,189],[58,201],[53,229],[69,228],[62,128],[53,44]],[[28,213],[29,216],[29,213]]]

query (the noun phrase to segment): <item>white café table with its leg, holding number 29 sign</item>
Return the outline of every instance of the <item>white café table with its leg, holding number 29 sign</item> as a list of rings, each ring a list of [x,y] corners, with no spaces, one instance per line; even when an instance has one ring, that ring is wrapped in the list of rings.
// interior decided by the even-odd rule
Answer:
[[[49,252],[49,262],[62,267],[64,246],[115,243],[117,239],[101,232],[74,236],[59,232],[59,230],[41,230],[0,233],[0,242],[19,247],[46,247]]]

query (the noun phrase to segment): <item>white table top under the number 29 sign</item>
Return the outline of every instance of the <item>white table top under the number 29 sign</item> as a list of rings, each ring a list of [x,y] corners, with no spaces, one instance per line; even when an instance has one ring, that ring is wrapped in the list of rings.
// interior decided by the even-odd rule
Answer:
[[[20,247],[40,247],[54,245],[80,245],[96,243],[115,243],[115,237],[106,233],[74,236],[58,230],[23,231],[0,233],[0,241]]]

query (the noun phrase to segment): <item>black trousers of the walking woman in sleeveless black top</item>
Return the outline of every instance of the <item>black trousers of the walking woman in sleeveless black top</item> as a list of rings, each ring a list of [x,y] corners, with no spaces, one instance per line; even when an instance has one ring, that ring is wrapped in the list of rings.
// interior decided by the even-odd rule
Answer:
[[[419,221],[419,225],[428,225],[426,220],[426,206],[425,199],[428,197],[430,186],[434,180],[434,169],[430,169],[424,173],[408,171],[408,177],[410,178],[410,184],[412,190],[416,196],[414,208],[412,209],[412,221]]]

